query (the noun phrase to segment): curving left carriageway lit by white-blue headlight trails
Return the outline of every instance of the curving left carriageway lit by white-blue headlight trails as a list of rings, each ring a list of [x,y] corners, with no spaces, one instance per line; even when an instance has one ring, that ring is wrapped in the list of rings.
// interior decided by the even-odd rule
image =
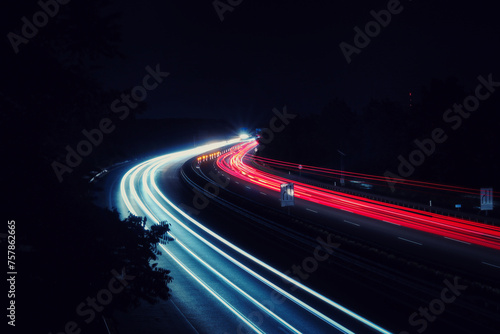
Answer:
[[[161,264],[172,271],[176,303],[193,327],[200,333],[389,333],[252,256],[170,200],[182,192],[179,175],[187,160],[236,141],[148,160],[131,168],[119,186],[119,212],[172,224],[174,241],[162,245]]]

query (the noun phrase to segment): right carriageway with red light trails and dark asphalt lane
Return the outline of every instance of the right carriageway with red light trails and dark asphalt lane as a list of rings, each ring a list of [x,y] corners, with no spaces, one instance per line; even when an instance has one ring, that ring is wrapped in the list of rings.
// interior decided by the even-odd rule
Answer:
[[[500,279],[500,228],[441,216],[416,209],[398,207],[287,179],[251,166],[245,159],[256,142],[238,152],[218,157],[217,167],[231,175],[228,190],[245,194],[262,205],[279,198],[281,183],[295,183],[294,214],[323,223],[345,234],[356,235],[368,243],[426,259],[458,272],[478,273],[492,282]],[[252,189],[252,194],[248,194]],[[276,200],[274,204],[279,205]]]

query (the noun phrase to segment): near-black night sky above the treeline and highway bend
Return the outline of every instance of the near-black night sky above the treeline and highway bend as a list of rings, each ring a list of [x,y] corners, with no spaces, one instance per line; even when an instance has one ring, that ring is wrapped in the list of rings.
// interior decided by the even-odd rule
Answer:
[[[233,1],[237,4],[239,1]],[[144,67],[171,73],[147,99],[142,117],[223,117],[251,122],[287,105],[319,113],[338,97],[356,112],[371,98],[418,102],[432,78],[455,76],[466,89],[498,70],[499,20],[493,2],[402,1],[399,14],[347,63],[358,26],[389,1],[244,0],[221,21],[212,1],[122,1],[125,59],[102,82],[126,89]],[[394,2],[396,5],[397,3]],[[500,74],[498,74],[500,76]]]

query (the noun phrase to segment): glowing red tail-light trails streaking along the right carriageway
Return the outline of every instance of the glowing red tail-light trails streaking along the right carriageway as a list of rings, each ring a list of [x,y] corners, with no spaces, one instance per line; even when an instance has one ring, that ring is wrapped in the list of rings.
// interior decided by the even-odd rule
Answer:
[[[395,204],[383,203],[355,195],[349,195],[297,181],[292,181],[256,169],[245,163],[244,158],[248,155],[248,152],[253,150],[257,145],[258,143],[256,141],[253,141],[248,144],[242,145],[238,150],[231,150],[230,152],[219,156],[217,158],[217,166],[221,170],[234,177],[246,180],[248,182],[260,185],[276,192],[280,191],[281,183],[293,182],[295,184],[296,198],[311,201],[331,208],[352,212],[376,220],[386,221],[416,230],[434,233],[443,237],[482,245],[485,247],[500,249],[500,228],[496,226],[485,225],[465,219],[444,216],[437,213],[411,209]],[[264,161],[264,159],[260,159],[261,161]],[[275,160],[271,161],[270,159],[266,161],[274,162],[276,164],[283,164],[294,167],[296,166],[296,164],[278,162]],[[321,170],[326,172],[332,171],[326,168],[313,166],[303,167],[304,170],[306,170],[306,168],[309,168],[310,170]],[[339,171],[333,172],[337,173]],[[360,173],[343,173],[344,175],[350,174],[363,176],[364,178],[382,178]],[[435,189],[441,190],[444,189],[443,187],[448,187],[446,190],[450,191],[452,189],[459,190],[461,192],[469,192],[474,190],[470,188],[443,186],[419,181],[405,181],[426,184],[428,187],[433,187]]]

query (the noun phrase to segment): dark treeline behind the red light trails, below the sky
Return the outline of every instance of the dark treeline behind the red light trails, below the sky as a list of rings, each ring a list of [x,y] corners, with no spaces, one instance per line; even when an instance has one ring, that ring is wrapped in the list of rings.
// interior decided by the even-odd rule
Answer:
[[[372,99],[355,113],[343,100],[333,98],[320,113],[292,120],[260,154],[340,169],[340,150],[348,171],[376,175],[389,171],[409,179],[498,189],[500,92],[480,101],[468,118],[445,114],[455,103],[463,104],[464,98],[474,95],[474,90],[466,91],[457,81],[432,79],[421,89],[420,101],[412,106]],[[481,92],[486,93],[486,88]],[[434,142],[433,148],[429,140],[439,128],[441,142]],[[412,152],[423,150],[417,141],[427,143],[423,162],[413,166],[411,173],[405,167],[400,174],[400,156],[410,162]],[[413,161],[417,155],[420,153],[413,153]]]

